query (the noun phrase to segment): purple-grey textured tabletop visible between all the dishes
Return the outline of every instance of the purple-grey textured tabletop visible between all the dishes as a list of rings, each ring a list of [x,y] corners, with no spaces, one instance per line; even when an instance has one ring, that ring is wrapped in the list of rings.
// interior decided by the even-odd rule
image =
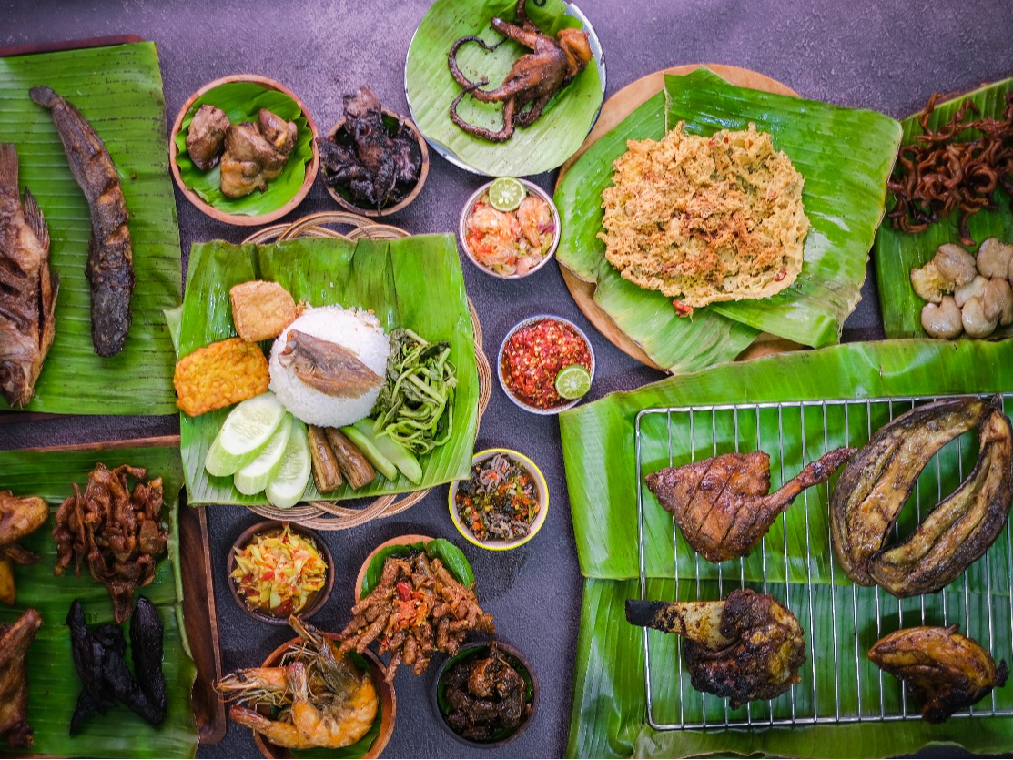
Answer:
[[[463,2],[464,0],[462,0]],[[252,72],[276,78],[307,103],[321,132],[340,116],[340,98],[369,84],[387,107],[406,112],[404,57],[425,11],[425,0],[381,3],[291,0],[220,0],[211,3],[126,0],[0,0],[0,46],[136,33],[158,43],[169,124],[189,96],[220,76]],[[608,94],[645,74],[687,63],[724,63],[762,72],[802,96],[840,105],[875,108],[903,118],[935,90],[955,92],[1013,74],[1013,6],[959,0],[883,3],[851,0],[580,0],[606,53]],[[2,107],[2,104],[0,104]],[[168,124],[166,129],[168,129]],[[536,178],[546,188],[553,176]],[[461,205],[482,182],[433,157],[419,199],[390,221],[411,232],[456,229]],[[176,193],[183,267],[192,242],[241,240],[249,230],[216,223]],[[291,216],[334,208],[318,182]],[[520,283],[500,283],[467,261],[464,276],[494,357],[504,332],[519,319],[553,311],[590,330],[598,356],[592,397],[636,388],[659,373],[638,366],[604,340],[579,314],[558,269],[547,267]],[[848,320],[845,339],[882,336],[874,276]],[[174,417],[69,417],[0,426],[0,449],[115,440],[178,431]],[[521,549],[466,553],[479,593],[503,638],[532,660],[542,704],[531,730],[500,757],[559,757],[566,749],[576,644],[580,579],[563,477],[559,429],[554,417],[521,411],[498,387],[478,447],[513,446],[538,462],[549,481],[552,507],[536,539]],[[288,631],[252,622],[224,588],[224,558],[236,535],[254,522],[241,508],[209,511],[222,653],[225,669],[259,664]],[[331,534],[337,564],[334,594],[314,621],[335,628],[347,619],[359,566],[378,543],[402,533],[446,536],[463,544],[447,514],[447,490],[391,520]],[[397,727],[386,757],[466,757],[474,753],[435,723],[428,701],[432,674],[397,677]],[[1011,742],[1013,743],[1013,742]],[[937,756],[944,756],[936,753]],[[245,729],[230,727],[203,757],[256,757]]]

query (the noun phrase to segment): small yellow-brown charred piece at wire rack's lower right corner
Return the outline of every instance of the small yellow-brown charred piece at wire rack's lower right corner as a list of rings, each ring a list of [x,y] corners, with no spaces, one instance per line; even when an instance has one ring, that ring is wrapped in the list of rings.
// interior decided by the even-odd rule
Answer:
[[[981,644],[948,628],[904,628],[880,638],[869,660],[924,702],[922,718],[941,724],[1006,684],[1009,670],[996,663]]]

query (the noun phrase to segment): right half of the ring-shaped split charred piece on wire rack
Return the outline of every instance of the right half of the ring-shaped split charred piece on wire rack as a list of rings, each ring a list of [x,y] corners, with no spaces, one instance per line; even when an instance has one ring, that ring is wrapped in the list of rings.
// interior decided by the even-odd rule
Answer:
[[[898,598],[931,594],[989,550],[1013,503],[1013,430],[999,409],[979,428],[975,469],[906,541],[872,555],[869,575]]]

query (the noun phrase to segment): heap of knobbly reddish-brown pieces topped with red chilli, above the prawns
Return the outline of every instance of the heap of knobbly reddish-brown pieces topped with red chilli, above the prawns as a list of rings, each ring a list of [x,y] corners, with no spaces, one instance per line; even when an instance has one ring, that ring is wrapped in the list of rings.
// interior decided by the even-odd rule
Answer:
[[[341,652],[362,654],[379,638],[379,654],[391,655],[388,682],[401,663],[419,676],[434,652],[456,655],[469,630],[496,632],[492,616],[478,604],[474,585],[462,586],[425,552],[389,557],[376,589],[352,608],[352,615],[340,633]]]

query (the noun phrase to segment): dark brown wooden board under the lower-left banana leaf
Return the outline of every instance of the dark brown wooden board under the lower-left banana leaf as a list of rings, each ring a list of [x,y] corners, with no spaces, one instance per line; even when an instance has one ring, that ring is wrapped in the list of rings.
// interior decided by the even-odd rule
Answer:
[[[99,451],[124,448],[179,448],[179,436],[139,438],[133,441],[52,446],[27,451]],[[190,656],[197,666],[191,703],[201,744],[218,744],[225,738],[228,721],[225,704],[215,691],[222,677],[222,653],[215,609],[214,568],[204,507],[186,504],[186,489],[179,493],[179,575],[183,583],[183,626]],[[25,755],[25,757],[45,757]]]

